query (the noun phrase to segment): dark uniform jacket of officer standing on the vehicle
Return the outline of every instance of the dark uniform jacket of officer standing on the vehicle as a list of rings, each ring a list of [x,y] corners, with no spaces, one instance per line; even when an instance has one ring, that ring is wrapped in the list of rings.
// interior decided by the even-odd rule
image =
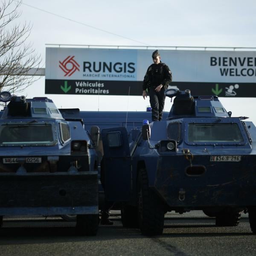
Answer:
[[[147,88],[157,87],[163,84],[164,88],[168,87],[168,84],[172,81],[172,72],[169,67],[160,62],[159,64],[151,64],[145,74],[143,80],[143,90]]]

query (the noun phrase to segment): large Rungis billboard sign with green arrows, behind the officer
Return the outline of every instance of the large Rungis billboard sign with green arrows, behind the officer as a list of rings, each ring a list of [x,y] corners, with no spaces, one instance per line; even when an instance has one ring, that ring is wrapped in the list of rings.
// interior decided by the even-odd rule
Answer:
[[[45,93],[142,95],[149,49],[46,48]],[[159,50],[172,88],[194,95],[256,97],[256,52]]]

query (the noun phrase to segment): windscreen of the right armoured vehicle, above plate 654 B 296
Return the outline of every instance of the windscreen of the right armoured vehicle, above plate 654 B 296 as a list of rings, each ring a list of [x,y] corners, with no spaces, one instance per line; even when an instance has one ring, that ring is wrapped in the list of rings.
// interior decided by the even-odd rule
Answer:
[[[189,142],[242,142],[243,137],[236,123],[189,124]]]

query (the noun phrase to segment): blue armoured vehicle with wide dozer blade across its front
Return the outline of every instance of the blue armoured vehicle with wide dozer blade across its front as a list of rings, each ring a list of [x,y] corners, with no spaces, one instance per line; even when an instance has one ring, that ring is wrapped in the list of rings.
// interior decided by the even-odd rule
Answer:
[[[99,225],[99,128],[84,130],[79,110],[64,118],[51,99],[11,96],[0,118],[0,226],[6,215],[77,215],[76,228]]]

